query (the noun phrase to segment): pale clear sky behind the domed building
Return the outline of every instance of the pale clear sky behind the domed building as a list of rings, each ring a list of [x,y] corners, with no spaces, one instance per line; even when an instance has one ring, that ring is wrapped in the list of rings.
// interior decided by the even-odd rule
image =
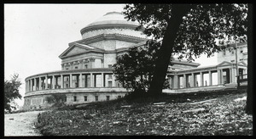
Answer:
[[[19,74],[21,100],[25,79],[61,70],[69,42],[82,39],[80,30],[108,12],[121,12],[125,4],[4,4],[4,79]],[[210,61],[210,62],[209,62]],[[201,66],[217,64],[216,56],[195,59]]]

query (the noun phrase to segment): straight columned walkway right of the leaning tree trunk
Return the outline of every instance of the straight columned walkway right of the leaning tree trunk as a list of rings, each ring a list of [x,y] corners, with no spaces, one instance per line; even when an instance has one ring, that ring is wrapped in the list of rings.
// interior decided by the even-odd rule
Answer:
[[[247,73],[247,69],[239,68],[239,75]],[[181,72],[167,74],[171,89],[189,88],[198,86],[217,86],[236,83],[236,68],[223,69],[185,69]]]

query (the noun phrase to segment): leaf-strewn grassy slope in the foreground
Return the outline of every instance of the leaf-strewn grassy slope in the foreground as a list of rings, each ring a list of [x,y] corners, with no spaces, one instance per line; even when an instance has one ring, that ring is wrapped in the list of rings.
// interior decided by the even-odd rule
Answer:
[[[247,93],[212,91],[119,99],[50,110],[38,115],[45,136],[253,135]]]

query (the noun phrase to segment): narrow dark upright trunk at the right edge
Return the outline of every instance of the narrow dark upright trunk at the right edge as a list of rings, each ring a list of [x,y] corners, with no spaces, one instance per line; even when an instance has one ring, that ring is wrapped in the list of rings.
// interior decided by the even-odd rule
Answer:
[[[247,49],[248,49],[248,64],[247,64],[247,106],[246,113],[253,114],[253,6],[248,4],[248,25],[247,25]]]

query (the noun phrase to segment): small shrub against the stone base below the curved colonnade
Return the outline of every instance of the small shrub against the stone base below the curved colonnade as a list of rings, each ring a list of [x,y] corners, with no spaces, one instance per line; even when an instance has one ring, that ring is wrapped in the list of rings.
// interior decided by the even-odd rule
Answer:
[[[67,99],[65,94],[52,94],[49,97],[46,97],[46,101],[49,104],[53,104],[52,107],[61,107],[65,105],[65,99]]]

